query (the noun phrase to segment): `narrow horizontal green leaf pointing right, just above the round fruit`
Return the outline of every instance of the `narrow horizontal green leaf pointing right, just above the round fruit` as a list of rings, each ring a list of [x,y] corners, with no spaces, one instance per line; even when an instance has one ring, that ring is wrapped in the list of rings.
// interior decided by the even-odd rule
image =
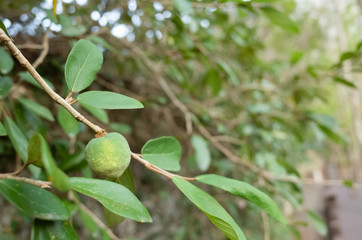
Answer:
[[[108,91],[88,91],[77,97],[79,103],[101,109],[143,108],[141,102],[125,95]]]

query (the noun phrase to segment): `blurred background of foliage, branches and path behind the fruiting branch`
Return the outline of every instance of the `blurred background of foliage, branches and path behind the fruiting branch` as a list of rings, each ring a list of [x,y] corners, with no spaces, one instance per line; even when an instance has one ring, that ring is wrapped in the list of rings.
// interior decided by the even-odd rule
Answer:
[[[97,44],[104,64],[90,89],[125,94],[145,108],[75,106],[107,131],[124,134],[134,152],[151,138],[175,136],[183,146],[182,175],[216,173],[271,196],[287,226],[203,187],[248,239],[349,240],[362,234],[361,9],[360,0],[2,0],[0,19],[63,97],[72,45],[82,38]],[[47,135],[64,171],[91,174],[83,153],[90,131],[78,123],[69,130],[24,108],[21,96],[54,115],[58,106],[0,50],[0,82],[13,82],[2,108],[27,137]],[[0,161],[1,172],[21,163],[7,137],[0,137]],[[119,236],[224,239],[172,183],[137,162],[131,169],[153,223],[126,220],[112,228]],[[87,201],[101,216],[100,206]],[[31,219],[2,197],[0,204],[1,238],[27,239]],[[85,223],[73,222],[82,239],[102,239]]]

